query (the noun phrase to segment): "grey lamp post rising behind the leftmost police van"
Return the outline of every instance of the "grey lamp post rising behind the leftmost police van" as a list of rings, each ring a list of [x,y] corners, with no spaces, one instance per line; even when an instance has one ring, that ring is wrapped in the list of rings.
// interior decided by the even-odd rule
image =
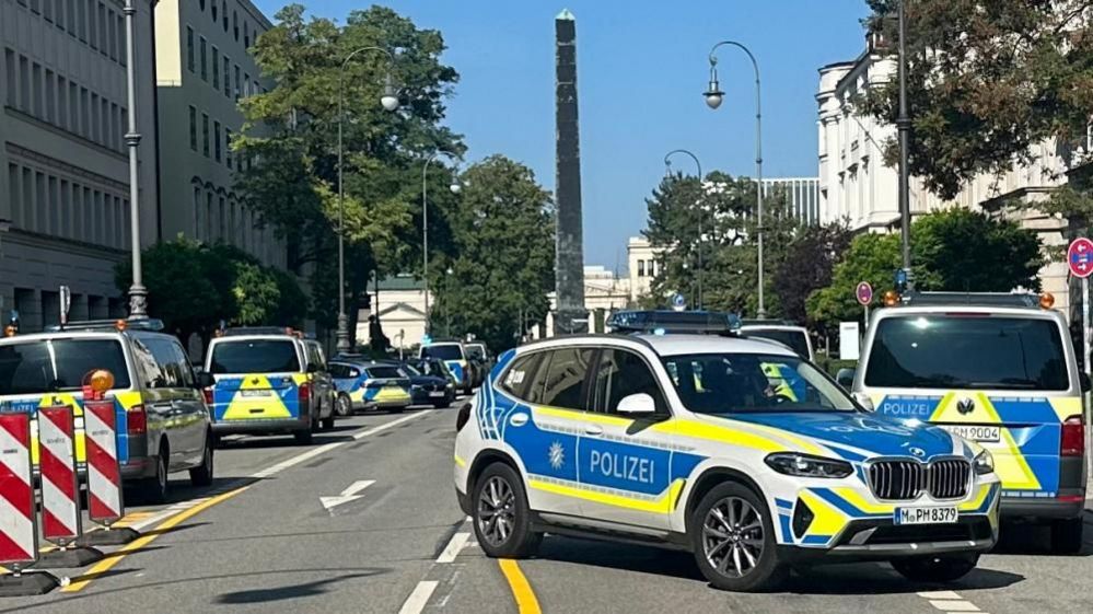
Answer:
[[[129,287],[129,320],[148,317],[148,289],[143,283],[140,260],[140,185],[137,164],[137,147],[140,132],[137,131],[137,8],[133,0],[125,2],[126,26],[126,85],[128,90],[129,126],[125,134],[125,144],[129,149],[129,243],[132,252],[132,286]]]

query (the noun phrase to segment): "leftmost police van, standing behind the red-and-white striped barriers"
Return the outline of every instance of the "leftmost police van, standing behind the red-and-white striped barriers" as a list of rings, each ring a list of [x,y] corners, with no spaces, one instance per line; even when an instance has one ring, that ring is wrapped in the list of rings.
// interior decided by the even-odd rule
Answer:
[[[78,468],[85,475],[83,384],[90,373],[106,370],[114,378],[106,395],[117,413],[126,487],[163,502],[171,473],[188,470],[195,486],[210,485],[213,447],[201,387],[211,381],[194,373],[178,339],[162,328],[158,320],[79,322],[34,335],[9,327],[0,339],[0,412],[33,416],[38,407],[71,407]],[[36,418],[31,430],[37,465]]]

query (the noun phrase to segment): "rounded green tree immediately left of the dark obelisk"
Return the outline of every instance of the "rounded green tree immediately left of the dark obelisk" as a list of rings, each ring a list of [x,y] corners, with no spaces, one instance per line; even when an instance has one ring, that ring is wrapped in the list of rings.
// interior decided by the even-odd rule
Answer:
[[[555,217],[531,169],[492,155],[463,174],[452,218],[454,258],[430,265],[434,334],[473,334],[500,351],[515,343],[520,318],[543,322],[554,289]],[[452,275],[446,269],[452,269]]]

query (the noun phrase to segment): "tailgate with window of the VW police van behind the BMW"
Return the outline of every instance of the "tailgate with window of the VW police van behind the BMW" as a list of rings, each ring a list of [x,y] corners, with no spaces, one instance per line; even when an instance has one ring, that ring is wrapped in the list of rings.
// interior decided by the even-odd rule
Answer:
[[[886,314],[874,323],[861,391],[988,449],[1004,495],[1054,498],[1062,425],[1081,416],[1066,329],[1049,312]]]

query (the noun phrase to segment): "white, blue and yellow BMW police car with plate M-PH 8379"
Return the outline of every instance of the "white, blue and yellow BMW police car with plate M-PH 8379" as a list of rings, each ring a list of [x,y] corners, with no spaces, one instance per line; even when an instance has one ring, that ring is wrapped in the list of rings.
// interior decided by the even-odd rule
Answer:
[[[457,427],[460,505],[493,557],[531,555],[544,533],[640,541],[691,551],[714,587],[757,590],[821,559],[954,580],[998,537],[989,453],[863,410],[766,340],[522,346]]]

